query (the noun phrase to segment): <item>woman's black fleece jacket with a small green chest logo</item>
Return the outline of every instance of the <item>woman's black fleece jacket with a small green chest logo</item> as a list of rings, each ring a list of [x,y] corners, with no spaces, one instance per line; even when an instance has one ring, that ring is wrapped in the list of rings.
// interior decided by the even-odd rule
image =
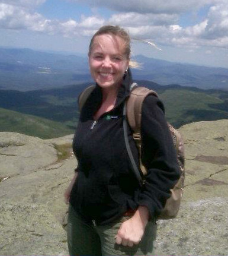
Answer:
[[[179,178],[179,166],[162,102],[147,96],[142,108],[142,161],[148,175],[141,188],[131,168],[123,132],[123,105],[129,96],[131,74],[124,78],[114,109],[97,122],[94,113],[102,102],[97,85],[85,102],[73,138],[78,159],[78,177],[70,195],[70,204],[86,220],[100,225],[112,222],[130,209],[147,206],[156,218]],[[139,154],[128,127],[129,143],[139,165]]]

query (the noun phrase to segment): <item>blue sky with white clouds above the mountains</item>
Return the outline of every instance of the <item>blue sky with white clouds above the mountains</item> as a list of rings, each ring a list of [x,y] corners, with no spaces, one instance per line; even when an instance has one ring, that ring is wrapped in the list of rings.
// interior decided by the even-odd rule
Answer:
[[[1,47],[87,56],[107,24],[129,31],[133,59],[228,68],[227,0],[0,0]]]

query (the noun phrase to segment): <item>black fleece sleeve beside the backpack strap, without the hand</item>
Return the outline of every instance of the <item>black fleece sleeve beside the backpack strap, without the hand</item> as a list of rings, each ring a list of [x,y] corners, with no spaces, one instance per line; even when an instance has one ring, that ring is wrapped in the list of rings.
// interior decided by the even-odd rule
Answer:
[[[141,134],[142,162],[148,174],[138,203],[147,206],[150,217],[156,218],[171,196],[180,170],[163,104],[155,96],[143,102]]]

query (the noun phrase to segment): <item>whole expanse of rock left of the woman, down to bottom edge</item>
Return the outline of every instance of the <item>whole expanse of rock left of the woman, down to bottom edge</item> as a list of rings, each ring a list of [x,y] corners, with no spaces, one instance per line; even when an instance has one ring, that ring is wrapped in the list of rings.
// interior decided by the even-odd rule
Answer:
[[[72,151],[69,139],[0,132],[0,255],[68,254],[63,195],[77,163],[72,154],[58,160],[61,143]]]

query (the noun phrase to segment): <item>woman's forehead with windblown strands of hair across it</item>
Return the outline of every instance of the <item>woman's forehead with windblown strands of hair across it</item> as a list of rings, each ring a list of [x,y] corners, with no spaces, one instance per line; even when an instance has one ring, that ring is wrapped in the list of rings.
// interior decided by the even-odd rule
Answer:
[[[119,36],[113,34],[100,34],[94,38],[92,51],[124,54],[125,45],[124,40]]]

